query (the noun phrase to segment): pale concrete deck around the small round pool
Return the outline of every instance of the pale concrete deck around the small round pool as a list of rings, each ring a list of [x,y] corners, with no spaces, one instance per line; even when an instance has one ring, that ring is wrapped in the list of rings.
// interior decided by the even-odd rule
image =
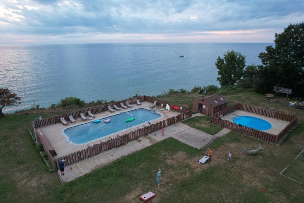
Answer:
[[[282,121],[276,118],[270,118],[258,114],[253,114],[247,111],[243,110],[236,110],[234,113],[227,114],[223,116],[223,119],[228,119],[229,121],[233,122],[232,119],[237,116],[252,116],[252,117],[257,117],[261,118],[265,121],[268,121],[271,124],[271,128],[268,130],[263,130],[264,132],[271,133],[273,135],[278,135],[290,122],[288,121]]]

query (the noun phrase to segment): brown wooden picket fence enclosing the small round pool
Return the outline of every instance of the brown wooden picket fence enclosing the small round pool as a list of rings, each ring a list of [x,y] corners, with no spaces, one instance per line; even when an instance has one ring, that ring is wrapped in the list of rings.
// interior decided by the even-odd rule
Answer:
[[[289,121],[290,123],[278,135],[273,135],[268,132],[256,130],[256,129],[249,128],[249,127],[243,126],[243,125],[238,125],[231,121],[223,120],[220,118],[222,115],[224,116],[226,114],[233,112],[233,110],[237,110],[237,109],[247,111],[250,113],[254,113],[254,114],[263,115],[266,117],[280,119],[283,121]],[[278,113],[278,112],[275,112],[272,110],[262,109],[262,108],[258,108],[258,107],[251,107],[251,106],[248,106],[245,104],[237,103],[237,104],[233,105],[232,107],[226,108],[224,110],[217,112],[216,114],[211,115],[210,122],[213,124],[219,125],[219,126],[223,126],[224,128],[228,128],[228,129],[243,133],[245,135],[250,135],[254,138],[265,140],[265,141],[271,142],[271,143],[277,143],[278,140],[280,140],[283,137],[283,135],[285,135],[285,133],[290,128],[292,128],[292,126],[297,122],[297,117],[295,117],[293,115],[289,115],[289,114]]]

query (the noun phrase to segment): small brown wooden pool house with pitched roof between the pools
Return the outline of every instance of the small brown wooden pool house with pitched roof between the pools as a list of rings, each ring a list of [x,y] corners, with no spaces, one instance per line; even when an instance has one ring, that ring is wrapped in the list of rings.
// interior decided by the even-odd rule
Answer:
[[[193,100],[192,110],[210,116],[220,110],[226,109],[227,103],[228,101],[223,99],[223,96],[213,94]]]

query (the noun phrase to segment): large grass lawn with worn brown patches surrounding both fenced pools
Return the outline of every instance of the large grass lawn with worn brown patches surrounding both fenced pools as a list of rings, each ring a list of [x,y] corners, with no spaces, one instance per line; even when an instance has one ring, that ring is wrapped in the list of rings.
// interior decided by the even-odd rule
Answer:
[[[0,202],[140,202],[140,194],[150,190],[157,194],[150,202],[301,202],[303,185],[279,173],[303,149],[304,111],[287,107],[281,98],[267,103],[264,95],[253,92],[224,98],[230,106],[240,102],[297,115],[301,123],[280,146],[232,131],[209,145],[214,156],[204,165],[197,161],[206,149],[168,138],[62,184],[57,173],[48,170],[27,131],[29,122],[40,114],[6,116],[0,119]],[[170,102],[190,106],[191,101],[183,97]],[[256,149],[259,143],[264,150],[244,155],[243,147]],[[229,151],[231,162],[227,161]],[[291,171],[298,177],[303,166],[294,163]],[[160,189],[156,188],[158,168],[163,176]]]

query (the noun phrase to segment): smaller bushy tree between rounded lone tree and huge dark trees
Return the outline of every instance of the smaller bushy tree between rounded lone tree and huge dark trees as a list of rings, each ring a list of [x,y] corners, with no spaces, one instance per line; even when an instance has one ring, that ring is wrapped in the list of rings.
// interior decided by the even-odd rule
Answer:
[[[254,88],[256,84],[256,78],[257,66],[254,64],[248,65],[243,73],[243,78],[237,82],[237,85],[243,87],[244,89]]]

